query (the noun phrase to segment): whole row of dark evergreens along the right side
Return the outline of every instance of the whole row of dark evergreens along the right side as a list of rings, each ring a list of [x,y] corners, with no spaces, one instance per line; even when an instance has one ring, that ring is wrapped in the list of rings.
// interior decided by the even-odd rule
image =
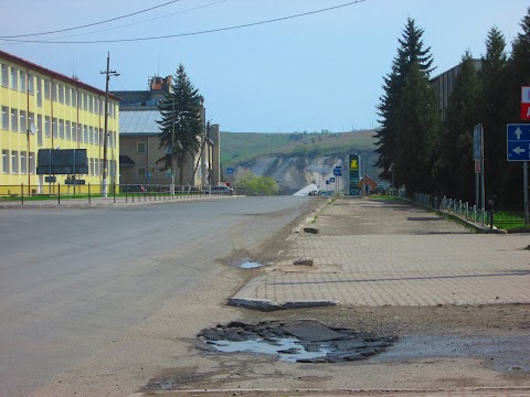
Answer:
[[[522,203],[522,167],[508,162],[506,125],[521,122],[521,86],[530,85],[530,8],[508,54],[502,32],[491,28],[479,62],[466,51],[447,107],[438,110],[432,83],[434,57],[424,30],[409,19],[383,77],[377,131],[380,178],[414,192],[475,202],[473,130],[484,127],[486,195],[505,207]]]

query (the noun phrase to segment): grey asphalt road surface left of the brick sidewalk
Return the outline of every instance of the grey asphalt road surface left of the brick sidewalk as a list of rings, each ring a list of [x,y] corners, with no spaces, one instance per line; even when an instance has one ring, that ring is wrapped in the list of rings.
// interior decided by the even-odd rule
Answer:
[[[52,393],[43,387],[54,377],[105,357],[166,302],[225,277],[220,259],[252,251],[307,203],[283,196],[1,211],[0,396]]]

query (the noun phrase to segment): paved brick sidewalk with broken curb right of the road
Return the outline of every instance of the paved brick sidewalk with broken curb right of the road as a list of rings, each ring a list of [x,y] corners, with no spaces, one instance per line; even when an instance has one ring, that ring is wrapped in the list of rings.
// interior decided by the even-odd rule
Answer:
[[[318,234],[293,234],[280,260],[231,304],[274,310],[530,303],[529,235],[475,234],[405,204],[347,200],[318,214],[311,224]],[[359,213],[350,234],[341,225],[343,211]],[[337,229],[340,235],[333,235]],[[314,266],[294,266],[296,259],[311,259]]]

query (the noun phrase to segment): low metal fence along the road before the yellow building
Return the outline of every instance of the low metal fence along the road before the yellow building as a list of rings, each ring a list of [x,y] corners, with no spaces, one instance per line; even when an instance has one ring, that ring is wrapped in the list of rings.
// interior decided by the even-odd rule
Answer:
[[[211,196],[226,196],[235,194],[236,190],[231,189],[220,191],[213,186],[174,186],[174,193],[169,184],[110,184],[107,187],[106,197],[100,193],[102,185],[70,185],[70,184],[49,184],[39,190],[31,190],[29,194],[28,185],[0,185],[1,203],[19,203],[20,205],[49,203],[61,205],[64,203],[95,204],[105,202],[138,203],[170,201],[179,198],[197,198]]]

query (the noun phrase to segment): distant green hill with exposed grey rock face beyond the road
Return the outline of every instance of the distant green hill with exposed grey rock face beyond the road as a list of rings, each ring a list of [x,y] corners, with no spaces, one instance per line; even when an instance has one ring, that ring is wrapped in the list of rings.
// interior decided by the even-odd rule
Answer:
[[[223,171],[229,167],[246,169],[257,174],[274,175],[282,183],[287,163],[292,164],[288,165],[290,173],[296,168],[306,171],[322,167],[329,169],[333,162],[346,164],[348,154],[358,153],[364,161],[364,173],[379,180],[381,171],[374,168],[378,159],[374,135],[374,130],[329,133],[221,132],[221,164]],[[275,169],[275,164],[278,164],[278,169]],[[285,181],[286,189],[297,189],[299,184],[310,183],[310,179],[315,179],[307,172],[303,174],[303,170],[298,171],[300,174],[297,178],[292,175],[294,181]]]

